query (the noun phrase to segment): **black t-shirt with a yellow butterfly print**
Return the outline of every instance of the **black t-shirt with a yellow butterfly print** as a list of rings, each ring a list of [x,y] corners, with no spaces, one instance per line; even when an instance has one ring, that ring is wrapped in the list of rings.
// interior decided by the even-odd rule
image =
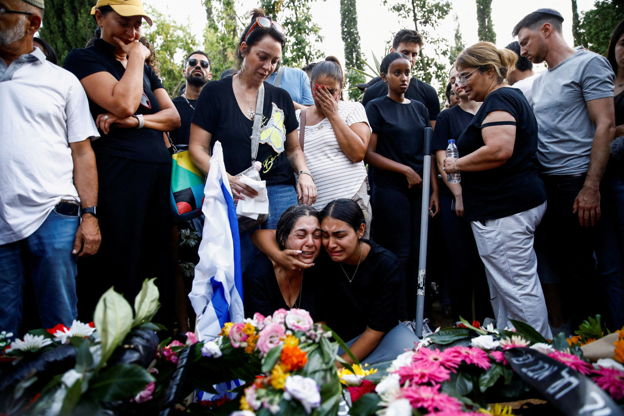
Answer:
[[[195,107],[193,123],[212,134],[211,148],[220,141],[223,146],[225,170],[239,174],[251,167],[251,133],[253,121],[238,107],[232,81],[227,77],[211,81],[203,87]],[[290,94],[265,82],[265,104],[262,111],[260,145],[256,160],[262,163],[260,178],[268,185],[295,184],[283,151],[286,134],[299,126]]]

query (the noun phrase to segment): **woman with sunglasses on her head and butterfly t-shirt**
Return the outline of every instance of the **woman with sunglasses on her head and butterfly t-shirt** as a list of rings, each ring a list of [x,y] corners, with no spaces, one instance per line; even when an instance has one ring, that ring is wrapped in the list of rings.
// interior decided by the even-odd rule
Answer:
[[[284,89],[265,82],[280,62],[285,44],[281,24],[271,21],[261,10],[252,11],[251,22],[236,47],[238,72],[203,87],[190,132],[193,163],[208,173],[212,147],[219,141],[233,197],[253,198],[258,193],[235,175],[251,166],[253,125],[260,117],[256,115],[256,103],[263,99],[256,161],[262,165],[260,179],[266,181],[268,192],[270,218],[262,224],[268,229],[275,229],[286,208],[298,201],[308,205],[316,201],[314,180],[297,138],[293,101]],[[260,86],[264,86],[263,97],[258,97]],[[293,171],[299,174],[296,183]],[[249,239],[251,232],[253,229],[241,234],[243,269],[255,252]]]

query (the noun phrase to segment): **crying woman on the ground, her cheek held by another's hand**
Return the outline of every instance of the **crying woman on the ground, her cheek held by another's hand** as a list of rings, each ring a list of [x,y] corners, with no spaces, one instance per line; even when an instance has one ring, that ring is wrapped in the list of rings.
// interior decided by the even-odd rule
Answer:
[[[303,264],[312,265],[321,250],[318,212],[303,205],[286,209],[277,223],[275,240],[280,250],[289,250]],[[308,310],[316,322],[325,320],[317,306],[321,289],[317,270],[288,270],[265,254],[256,256],[243,274],[245,315],[268,316],[280,308],[298,308]]]

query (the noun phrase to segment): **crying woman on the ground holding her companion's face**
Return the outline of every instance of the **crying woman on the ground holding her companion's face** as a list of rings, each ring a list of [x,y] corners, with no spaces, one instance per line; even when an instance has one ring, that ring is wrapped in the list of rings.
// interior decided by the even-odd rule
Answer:
[[[404,349],[413,348],[418,338],[399,323],[401,281],[396,256],[362,238],[366,225],[358,203],[329,202],[321,212],[321,230],[328,255],[320,255],[313,269],[323,276],[326,290],[318,307],[328,317],[329,327],[349,340],[351,352],[368,364],[395,359]],[[288,270],[311,267],[295,259],[294,251],[280,250],[269,232],[256,231],[251,239]],[[343,359],[352,362],[346,354]]]

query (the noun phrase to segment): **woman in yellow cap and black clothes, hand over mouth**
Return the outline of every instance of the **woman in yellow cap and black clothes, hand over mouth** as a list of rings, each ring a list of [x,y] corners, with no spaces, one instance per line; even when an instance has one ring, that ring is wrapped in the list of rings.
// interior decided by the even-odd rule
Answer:
[[[97,300],[112,285],[133,302],[143,280],[158,277],[158,322],[169,326],[171,159],[162,132],[180,126],[180,116],[154,70],[145,64],[150,50],[139,38],[142,20],[152,24],[150,17],[140,0],[118,3],[97,1],[91,14],[101,37],[90,47],[73,49],[65,60],[65,68],[87,92],[101,132],[92,146],[102,245],[97,255],[78,264],[79,316],[92,319]]]

